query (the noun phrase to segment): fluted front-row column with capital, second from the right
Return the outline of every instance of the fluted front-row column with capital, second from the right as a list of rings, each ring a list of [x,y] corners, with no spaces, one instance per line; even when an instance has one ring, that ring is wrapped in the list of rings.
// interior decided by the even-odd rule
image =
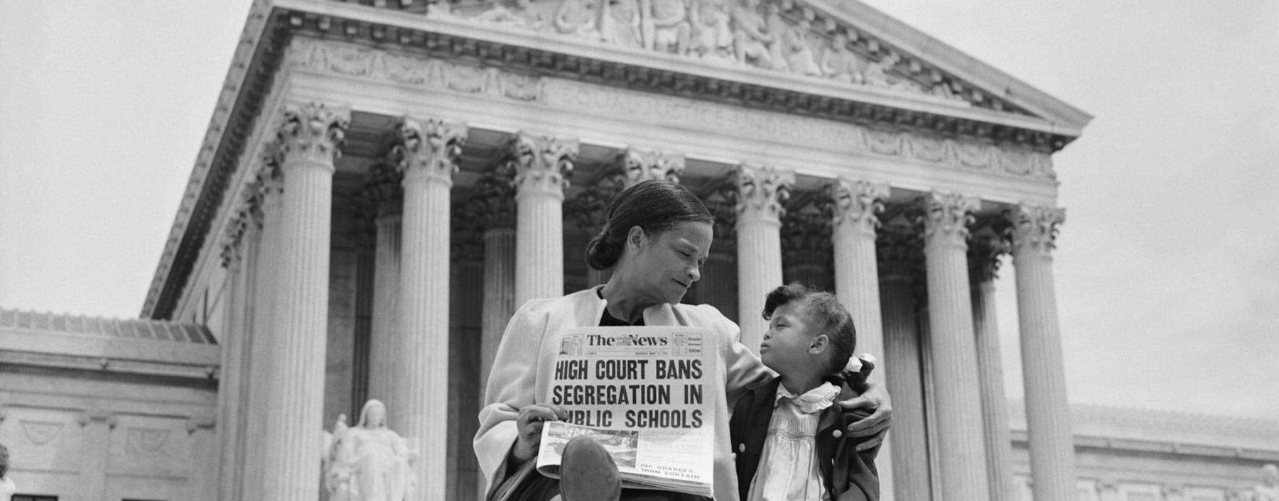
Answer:
[[[936,403],[938,491],[952,500],[986,500],[981,391],[972,373],[972,298],[968,295],[967,238],[977,199],[930,193],[922,198],[925,274],[929,285],[929,343]]]

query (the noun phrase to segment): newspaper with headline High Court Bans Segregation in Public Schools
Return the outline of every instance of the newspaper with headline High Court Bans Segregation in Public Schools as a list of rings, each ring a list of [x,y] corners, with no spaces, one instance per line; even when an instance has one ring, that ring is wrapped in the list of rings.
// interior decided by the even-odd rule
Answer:
[[[716,337],[698,327],[579,327],[564,332],[545,401],[569,413],[542,426],[537,470],[559,478],[578,435],[613,455],[623,487],[711,497]]]

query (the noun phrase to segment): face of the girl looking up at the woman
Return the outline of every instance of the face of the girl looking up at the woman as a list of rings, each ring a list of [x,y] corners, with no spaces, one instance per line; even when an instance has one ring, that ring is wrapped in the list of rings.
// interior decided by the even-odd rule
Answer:
[[[774,309],[769,318],[769,331],[760,343],[760,360],[778,373],[811,372],[813,355],[824,351],[817,339],[825,337],[821,326],[813,323],[804,309],[803,304],[787,303]]]

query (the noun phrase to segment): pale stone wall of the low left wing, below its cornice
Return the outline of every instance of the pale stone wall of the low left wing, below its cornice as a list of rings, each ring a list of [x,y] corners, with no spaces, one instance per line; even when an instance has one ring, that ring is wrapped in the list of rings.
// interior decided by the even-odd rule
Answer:
[[[18,493],[216,498],[216,389],[84,376],[0,373],[0,443]]]

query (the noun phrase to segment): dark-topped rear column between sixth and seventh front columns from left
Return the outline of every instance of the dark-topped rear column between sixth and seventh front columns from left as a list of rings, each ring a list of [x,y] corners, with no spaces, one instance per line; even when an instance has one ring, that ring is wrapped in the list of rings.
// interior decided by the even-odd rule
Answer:
[[[902,222],[902,221],[899,221]],[[876,258],[880,312],[884,322],[884,374],[893,395],[893,429],[888,435],[893,456],[884,463],[893,482],[881,482],[880,493],[899,500],[931,498],[927,426],[923,418],[923,380],[920,367],[920,327],[916,321],[916,282],[922,280],[923,250],[914,225],[886,224],[879,230]],[[909,472],[909,474],[902,474]]]

